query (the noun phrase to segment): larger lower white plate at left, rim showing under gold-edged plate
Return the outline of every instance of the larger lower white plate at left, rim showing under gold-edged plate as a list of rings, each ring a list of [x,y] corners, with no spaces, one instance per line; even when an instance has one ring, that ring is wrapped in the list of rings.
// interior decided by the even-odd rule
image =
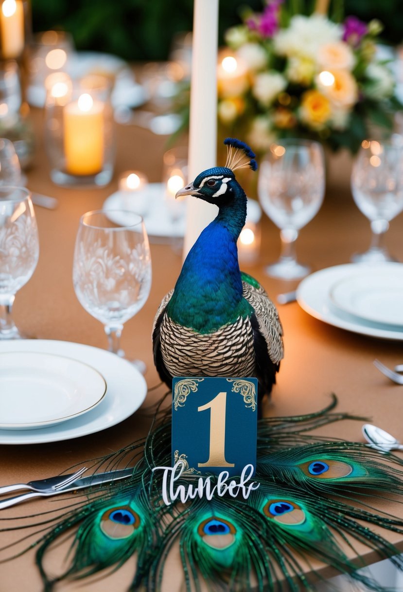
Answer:
[[[0,342],[2,352],[53,353],[76,359],[102,373],[107,385],[99,405],[73,419],[41,429],[0,429],[0,444],[39,444],[86,436],[115,426],[131,416],[144,401],[147,384],[128,361],[114,353],[81,343],[25,339]]]

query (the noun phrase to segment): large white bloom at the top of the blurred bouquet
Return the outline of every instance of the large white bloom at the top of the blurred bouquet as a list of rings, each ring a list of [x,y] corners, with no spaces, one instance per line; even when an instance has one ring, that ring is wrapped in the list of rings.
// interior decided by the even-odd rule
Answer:
[[[291,18],[290,27],[280,30],[274,36],[274,49],[281,56],[310,57],[316,61],[320,47],[339,41],[341,37],[340,25],[323,15],[295,15]]]

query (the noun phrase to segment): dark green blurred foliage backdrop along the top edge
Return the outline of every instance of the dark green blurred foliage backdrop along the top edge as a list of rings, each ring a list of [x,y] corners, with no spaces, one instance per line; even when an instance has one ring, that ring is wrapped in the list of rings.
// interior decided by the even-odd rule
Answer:
[[[294,11],[310,14],[313,1],[288,0]],[[220,0],[219,43],[223,33],[241,22],[242,8],[262,9],[262,0]],[[333,2],[334,9],[343,4]],[[382,21],[382,41],[399,44],[403,38],[401,0],[345,0],[345,15],[363,21]],[[173,6],[175,9],[173,9]],[[113,53],[125,60],[166,60],[173,34],[190,31],[193,0],[32,0],[34,31],[63,28],[78,50]],[[161,26],[163,24],[163,26]]]

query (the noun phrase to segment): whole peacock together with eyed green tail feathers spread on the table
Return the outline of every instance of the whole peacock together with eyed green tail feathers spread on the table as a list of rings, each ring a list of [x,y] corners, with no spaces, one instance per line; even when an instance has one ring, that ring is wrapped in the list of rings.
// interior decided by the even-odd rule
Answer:
[[[239,271],[236,256],[246,197],[234,170],[245,161],[255,168],[254,156],[238,140],[226,144],[226,166],[200,173],[182,191],[216,203],[219,214],[158,309],[155,363],[168,385],[174,375],[255,375],[261,391],[269,392],[283,355],[281,324],[264,289]],[[159,470],[171,466],[171,415],[159,405],[145,439],[95,464],[95,471],[131,466],[130,478],[77,493],[60,511],[50,509],[36,521],[30,514],[14,523],[9,513],[1,514],[0,532],[37,527],[27,551],[36,548],[45,592],[64,580],[117,570],[132,556],[129,590],[170,592],[163,577],[172,553],[187,592],[314,591],[315,581],[305,575],[313,558],[381,592],[348,555],[359,543],[403,570],[402,556],[388,540],[388,533],[403,535],[403,520],[378,508],[388,498],[402,503],[403,461],[360,443],[311,435],[331,422],[366,419],[336,412],[336,404],[332,395],[325,408],[311,414],[258,421],[258,487],[248,498],[224,494],[171,503],[161,498]],[[176,487],[192,484],[196,490],[200,476],[186,458],[181,463]],[[213,474],[205,478],[212,487],[220,480]],[[51,574],[48,551],[68,536],[67,567]],[[8,554],[3,560],[11,560],[11,549],[2,550]]]

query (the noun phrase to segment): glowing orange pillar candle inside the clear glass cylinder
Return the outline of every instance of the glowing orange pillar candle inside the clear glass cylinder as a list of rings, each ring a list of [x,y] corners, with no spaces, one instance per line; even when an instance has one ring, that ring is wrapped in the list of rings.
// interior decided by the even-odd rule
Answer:
[[[70,175],[95,175],[103,166],[103,104],[84,93],[63,110],[64,155]]]

